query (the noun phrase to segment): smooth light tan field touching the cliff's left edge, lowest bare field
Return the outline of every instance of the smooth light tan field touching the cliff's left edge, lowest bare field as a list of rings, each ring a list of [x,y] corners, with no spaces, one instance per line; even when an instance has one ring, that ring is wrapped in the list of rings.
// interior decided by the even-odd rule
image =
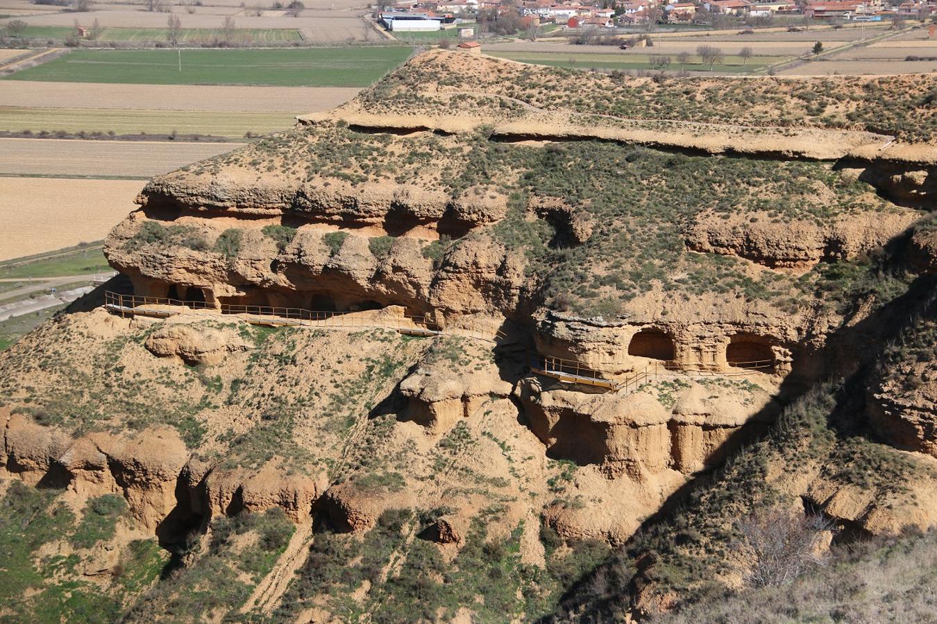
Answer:
[[[0,260],[99,240],[135,208],[137,180],[0,178]]]

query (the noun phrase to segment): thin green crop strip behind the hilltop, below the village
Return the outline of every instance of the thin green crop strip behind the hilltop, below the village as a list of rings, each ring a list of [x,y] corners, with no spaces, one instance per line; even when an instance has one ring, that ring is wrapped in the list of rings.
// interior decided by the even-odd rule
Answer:
[[[521,63],[530,63],[533,65],[551,65],[553,67],[569,67],[572,69],[651,69],[651,54],[593,54],[593,53],[563,53],[563,52],[503,52],[490,51],[485,52],[491,56],[498,56],[503,59],[520,61]],[[669,56],[671,63],[666,69],[678,71],[681,67],[677,61],[676,54],[662,54]],[[781,61],[780,57],[760,56],[756,59],[750,59],[746,65],[743,60],[736,56],[726,55],[723,62],[713,66],[713,72],[722,73],[740,73],[751,71]],[[686,71],[705,71],[709,72],[709,65],[703,65],[700,59],[692,57],[690,62],[682,67]]]

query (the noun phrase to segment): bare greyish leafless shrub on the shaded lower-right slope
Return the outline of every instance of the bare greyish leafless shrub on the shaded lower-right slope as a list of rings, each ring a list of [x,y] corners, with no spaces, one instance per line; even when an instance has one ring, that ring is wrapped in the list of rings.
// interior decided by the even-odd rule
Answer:
[[[798,514],[781,507],[738,520],[736,530],[741,539],[736,553],[746,581],[756,588],[786,585],[823,565],[823,546],[831,529],[821,515]]]

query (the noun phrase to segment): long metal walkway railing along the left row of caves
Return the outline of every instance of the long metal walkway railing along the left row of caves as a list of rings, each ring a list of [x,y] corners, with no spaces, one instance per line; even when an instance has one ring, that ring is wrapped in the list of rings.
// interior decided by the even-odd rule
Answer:
[[[288,327],[385,327],[416,336],[454,335],[497,341],[505,334],[498,327],[474,321],[458,320],[443,327],[426,314],[395,315],[381,310],[364,312],[326,312],[278,306],[247,306],[222,303],[219,307],[204,301],[183,301],[168,297],[141,297],[106,292],[104,305],[122,315],[172,316],[184,312],[180,308],[237,314],[247,323]]]

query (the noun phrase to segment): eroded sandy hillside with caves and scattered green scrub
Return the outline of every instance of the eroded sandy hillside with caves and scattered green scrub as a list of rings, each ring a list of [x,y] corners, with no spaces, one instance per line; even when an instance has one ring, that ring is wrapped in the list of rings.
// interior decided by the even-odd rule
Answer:
[[[156,177],[0,355],[0,617],[691,617],[740,518],[930,530],[935,88],[429,51]]]

